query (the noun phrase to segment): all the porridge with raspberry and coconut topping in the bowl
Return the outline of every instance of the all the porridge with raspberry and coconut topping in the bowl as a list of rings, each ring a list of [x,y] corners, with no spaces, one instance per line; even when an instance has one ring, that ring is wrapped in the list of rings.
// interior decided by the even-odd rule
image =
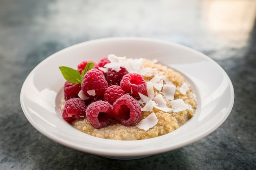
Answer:
[[[82,80],[65,82],[60,109],[66,121],[88,135],[115,140],[158,137],[184,125],[197,108],[186,79],[156,60],[109,55],[99,63],[79,65]],[[70,99],[74,101],[68,103]],[[82,106],[74,109],[79,102]]]

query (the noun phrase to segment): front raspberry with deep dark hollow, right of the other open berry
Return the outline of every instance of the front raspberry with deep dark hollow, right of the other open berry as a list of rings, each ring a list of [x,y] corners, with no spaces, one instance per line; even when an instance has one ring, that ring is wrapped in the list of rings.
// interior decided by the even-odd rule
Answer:
[[[141,107],[136,99],[125,94],[113,104],[112,113],[119,124],[129,126],[141,116]]]

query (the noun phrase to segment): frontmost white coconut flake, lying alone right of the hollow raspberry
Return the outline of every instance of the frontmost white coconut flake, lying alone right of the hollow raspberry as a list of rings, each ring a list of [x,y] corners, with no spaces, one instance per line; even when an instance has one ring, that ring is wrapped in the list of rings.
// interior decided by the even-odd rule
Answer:
[[[148,117],[146,117],[145,119],[142,119],[137,125],[136,127],[139,129],[143,129],[143,130],[148,130],[149,128],[154,127],[158,122],[157,116],[155,115],[154,112],[150,113],[150,115],[148,115]]]

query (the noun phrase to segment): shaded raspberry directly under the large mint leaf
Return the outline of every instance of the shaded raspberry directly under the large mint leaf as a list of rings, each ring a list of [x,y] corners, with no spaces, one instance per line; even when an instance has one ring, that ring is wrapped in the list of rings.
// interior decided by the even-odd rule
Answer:
[[[64,97],[66,100],[78,97],[78,93],[81,91],[81,84],[73,84],[68,81],[64,84]]]

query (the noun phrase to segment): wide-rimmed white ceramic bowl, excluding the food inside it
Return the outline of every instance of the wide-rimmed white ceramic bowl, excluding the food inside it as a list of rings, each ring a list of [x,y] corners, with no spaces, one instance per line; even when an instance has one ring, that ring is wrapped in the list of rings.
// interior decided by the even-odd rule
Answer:
[[[195,115],[184,126],[160,137],[115,141],[74,129],[58,110],[65,79],[59,66],[76,68],[109,54],[157,59],[182,73],[198,99]],[[191,144],[216,130],[234,104],[234,88],[225,71],[206,55],[185,46],[149,38],[105,38],[70,46],[45,59],[27,76],[20,93],[22,110],[46,137],[83,152],[112,159],[138,159]]]

